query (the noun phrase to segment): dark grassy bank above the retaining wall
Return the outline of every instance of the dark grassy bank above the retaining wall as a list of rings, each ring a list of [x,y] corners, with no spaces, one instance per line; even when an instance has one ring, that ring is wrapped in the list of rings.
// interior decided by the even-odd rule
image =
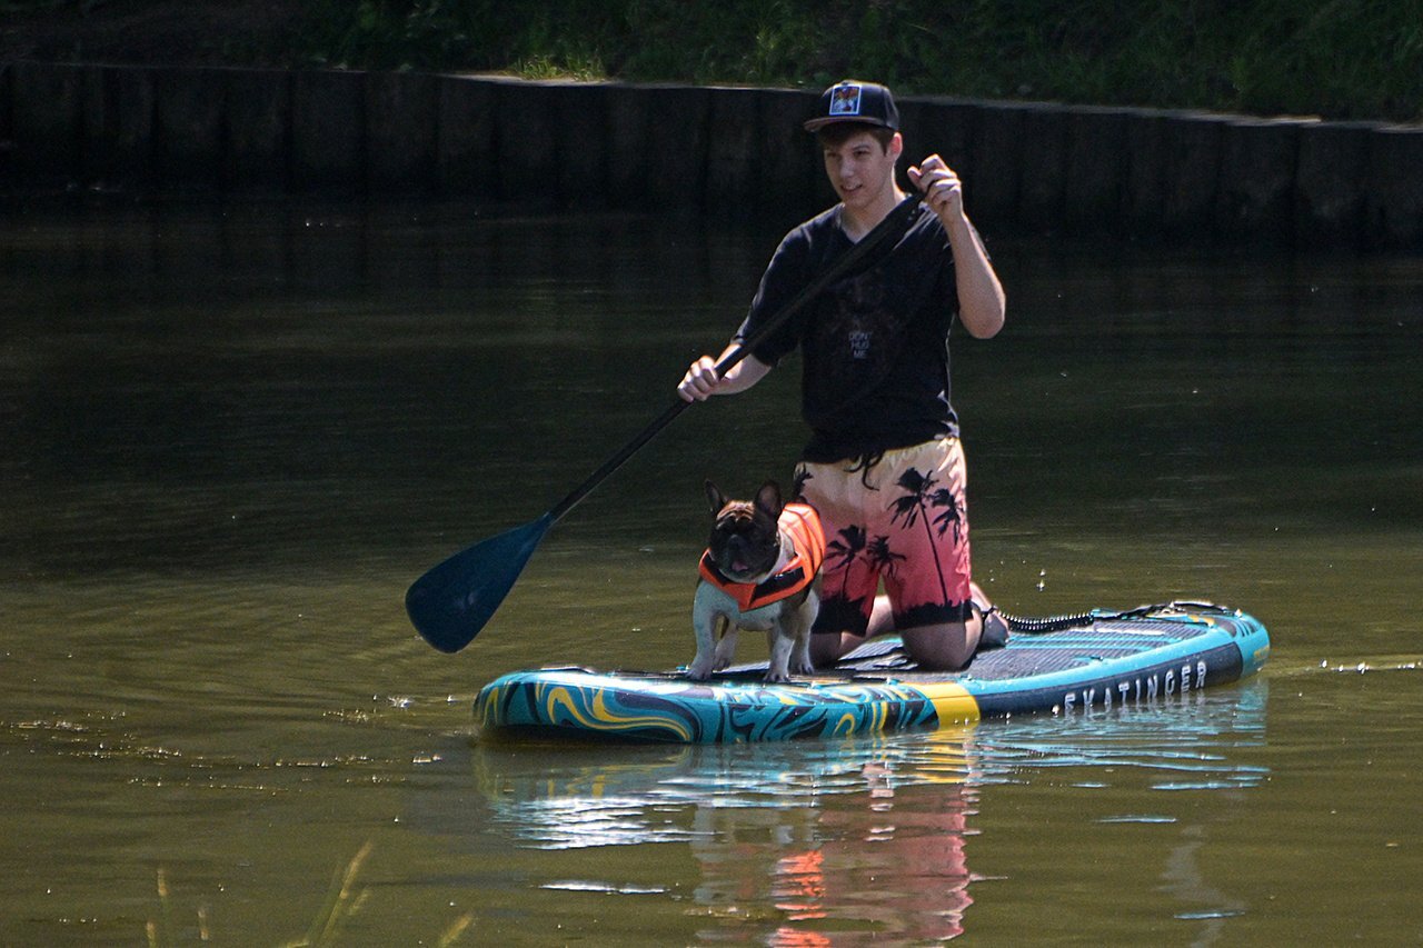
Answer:
[[[1423,120],[1420,0],[0,0],[0,58],[504,71]]]

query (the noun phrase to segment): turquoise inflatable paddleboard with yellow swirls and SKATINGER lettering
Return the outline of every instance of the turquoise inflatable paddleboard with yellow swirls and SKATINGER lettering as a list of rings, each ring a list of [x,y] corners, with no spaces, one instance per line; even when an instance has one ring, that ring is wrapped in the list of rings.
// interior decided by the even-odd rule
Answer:
[[[872,639],[834,669],[788,685],[746,665],[683,672],[545,668],[505,675],[475,699],[487,732],[741,743],[935,729],[1032,712],[1148,705],[1252,675],[1269,655],[1255,618],[1180,602],[1063,619],[1013,619],[1007,645],[961,672],[921,672],[898,639]]]

